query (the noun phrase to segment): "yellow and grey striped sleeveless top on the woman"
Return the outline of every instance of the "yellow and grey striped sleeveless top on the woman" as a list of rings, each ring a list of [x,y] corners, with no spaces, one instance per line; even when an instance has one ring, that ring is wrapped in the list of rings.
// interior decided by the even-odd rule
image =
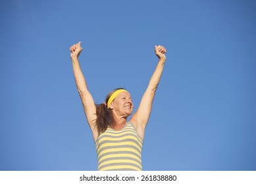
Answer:
[[[120,131],[110,127],[95,142],[99,171],[141,171],[143,141],[131,122]]]

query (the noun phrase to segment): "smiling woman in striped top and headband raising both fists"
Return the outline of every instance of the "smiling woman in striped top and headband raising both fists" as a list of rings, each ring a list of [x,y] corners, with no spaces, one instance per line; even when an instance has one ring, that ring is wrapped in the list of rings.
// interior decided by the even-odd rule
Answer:
[[[95,104],[82,74],[78,56],[82,51],[81,42],[70,47],[74,78],[88,124],[93,133],[97,150],[98,170],[142,170],[141,149],[144,131],[151,113],[155,91],[165,65],[165,47],[155,46],[159,58],[155,72],[140,102],[132,114],[133,103],[130,93],[118,88],[109,93],[103,104]]]

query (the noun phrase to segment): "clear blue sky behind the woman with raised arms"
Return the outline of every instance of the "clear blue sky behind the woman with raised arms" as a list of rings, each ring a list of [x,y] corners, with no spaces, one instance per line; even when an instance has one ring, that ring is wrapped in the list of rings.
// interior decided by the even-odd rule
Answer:
[[[97,170],[69,47],[96,103],[138,107],[166,65],[143,170],[256,170],[255,1],[1,1],[0,170]],[[135,108],[136,109],[136,108]]]

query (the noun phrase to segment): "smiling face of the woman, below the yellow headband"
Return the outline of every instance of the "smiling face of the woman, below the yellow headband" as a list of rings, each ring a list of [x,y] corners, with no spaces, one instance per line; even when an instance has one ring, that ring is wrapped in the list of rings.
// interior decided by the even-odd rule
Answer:
[[[132,103],[130,93],[126,91],[117,95],[117,97],[113,101],[113,110],[116,115],[125,115],[126,117],[128,117],[132,114],[133,107],[134,104]]]

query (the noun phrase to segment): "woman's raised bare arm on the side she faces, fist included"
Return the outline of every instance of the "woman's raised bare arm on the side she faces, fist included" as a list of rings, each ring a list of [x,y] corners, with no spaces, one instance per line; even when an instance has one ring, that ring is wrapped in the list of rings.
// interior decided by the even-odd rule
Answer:
[[[144,131],[145,131],[147,122],[149,120],[149,116],[151,114],[151,108],[153,104],[153,99],[155,97],[155,91],[157,90],[157,86],[161,79],[163,68],[165,66],[165,60],[166,60],[165,53],[166,53],[165,47],[161,45],[155,46],[155,55],[157,55],[157,57],[159,58],[159,62],[157,63],[157,67],[155,68],[155,71],[151,76],[149,85],[147,86],[147,89],[141,98],[141,102],[140,102],[140,106],[138,107],[138,110],[134,113],[134,115],[130,119],[130,121],[136,127],[141,139],[144,138]]]

